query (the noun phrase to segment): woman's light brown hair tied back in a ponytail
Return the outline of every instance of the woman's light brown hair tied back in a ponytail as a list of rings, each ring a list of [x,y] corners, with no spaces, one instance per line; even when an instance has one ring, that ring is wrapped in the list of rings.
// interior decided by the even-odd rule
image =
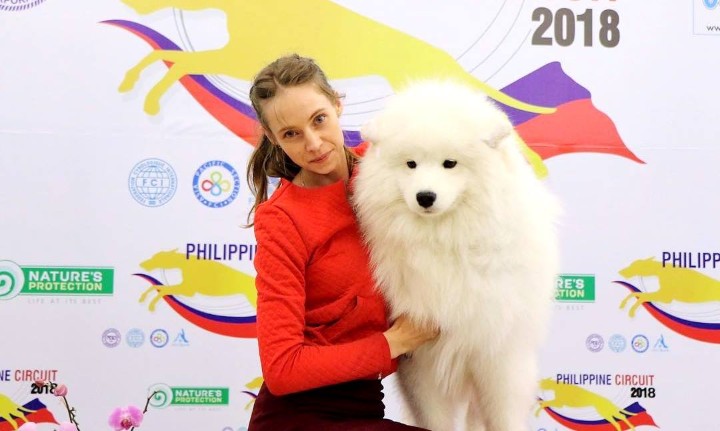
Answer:
[[[297,54],[280,57],[257,74],[252,87],[250,87],[250,102],[263,131],[270,130],[263,111],[265,102],[275,97],[281,88],[306,83],[317,85],[320,92],[327,96],[333,104],[338,102],[340,96],[330,86],[322,69],[311,58],[301,57]],[[352,166],[355,155],[350,151],[345,151],[345,154],[348,166]],[[253,225],[250,220],[258,205],[268,199],[268,177],[279,177],[292,181],[299,171],[300,167],[290,160],[279,145],[273,144],[263,133],[248,162],[247,181],[250,191],[255,196],[255,203],[248,214],[248,226]]]

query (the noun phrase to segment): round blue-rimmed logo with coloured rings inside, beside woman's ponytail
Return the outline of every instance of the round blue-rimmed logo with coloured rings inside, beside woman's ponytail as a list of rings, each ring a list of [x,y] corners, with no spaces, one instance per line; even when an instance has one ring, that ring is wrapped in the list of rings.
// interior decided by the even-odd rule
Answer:
[[[229,163],[209,161],[195,171],[193,192],[203,205],[222,208],[234,201],[240,192],[240,175]]]

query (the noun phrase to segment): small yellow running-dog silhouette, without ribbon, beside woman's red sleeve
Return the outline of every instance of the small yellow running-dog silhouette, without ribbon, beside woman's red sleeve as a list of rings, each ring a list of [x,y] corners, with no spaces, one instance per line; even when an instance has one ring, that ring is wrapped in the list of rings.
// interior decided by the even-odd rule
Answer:
[[[182,281],[174,285],[153,285],[140,296],[144,302],[147,296],[155,291],[155,297],[148,308],[155,311],[157,302],[167,295],[191,297],[197,293],[207,296],[229,296],[241,294],[245,296],[254,309],[257,308],[257,291],[255,279],[214,260],[185,257],[177,249],[155,253],[150,259],[142,262],[140,267],[145,271],[156,269],[179,269]]]

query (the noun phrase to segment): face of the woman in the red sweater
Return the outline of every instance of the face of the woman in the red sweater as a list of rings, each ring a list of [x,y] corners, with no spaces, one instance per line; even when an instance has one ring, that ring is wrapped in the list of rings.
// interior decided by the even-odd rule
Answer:
[[[270,140],[301,168],[296,184],[320,186],[348,178],[341,105],[314,83],[281,88],[263,106]]]

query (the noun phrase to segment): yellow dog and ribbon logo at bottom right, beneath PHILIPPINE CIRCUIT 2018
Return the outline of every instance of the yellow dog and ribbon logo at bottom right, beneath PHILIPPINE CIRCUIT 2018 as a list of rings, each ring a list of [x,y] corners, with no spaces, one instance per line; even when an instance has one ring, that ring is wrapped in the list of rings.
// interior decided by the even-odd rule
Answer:
[[[535,415],[539,416],[545,411],[560,425],[571,430],[621,431],[635,429],[640,425],[657,427],[650,414],[638,402],[621,407],[596,392],[556,379],[541,380],[540,389],[552,392],[553,395],[552,398],[539,399]],[[592,410],[597,419],[580,419],[573,415],[580,409]]]

